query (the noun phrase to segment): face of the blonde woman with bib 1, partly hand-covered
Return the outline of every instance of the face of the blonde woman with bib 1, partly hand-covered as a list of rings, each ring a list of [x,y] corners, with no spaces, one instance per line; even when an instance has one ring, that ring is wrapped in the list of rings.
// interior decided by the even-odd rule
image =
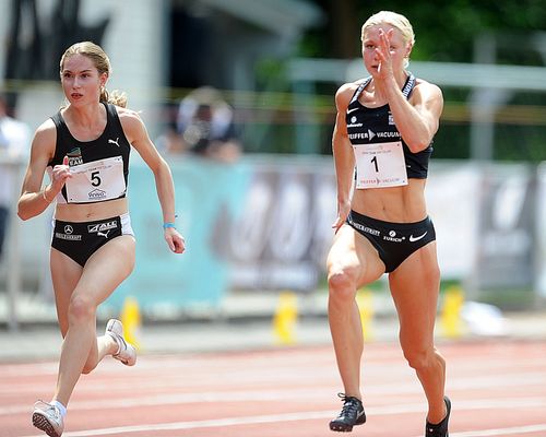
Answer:
[[[371,75],[379,74],[381,68],[392,71],[404,69],[404,58],[410,56],[411,47],[404,42],[402,33],[389,24],[378,24],[365,29],[363,34],[363,58]]]

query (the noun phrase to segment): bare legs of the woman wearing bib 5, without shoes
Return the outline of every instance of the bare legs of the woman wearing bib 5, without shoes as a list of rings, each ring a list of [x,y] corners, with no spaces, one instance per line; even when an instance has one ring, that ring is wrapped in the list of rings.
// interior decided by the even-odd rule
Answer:
[[[117,351],[112,339],[96,339],[96,308],[131,273],[133,265],[134,239],[131,236],[117,237],[87,260],[70,294],[67,291],[73,285],[75,275],[62,279],[66,256],[52,250],[51,272],[54,284],[60,286],[59,293],[56,288],[56,295],[64,335],[54,400],[63,405],[68,404],[80,375],[91,371],[105,355]]]

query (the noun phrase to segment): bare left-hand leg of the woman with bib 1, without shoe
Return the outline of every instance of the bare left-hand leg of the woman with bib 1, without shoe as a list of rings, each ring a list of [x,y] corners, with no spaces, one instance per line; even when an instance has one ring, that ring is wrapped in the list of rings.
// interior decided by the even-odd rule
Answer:
[[[351,226],[336,234],[328,256],[328,317],[345,394],[361,399],[360,359],[364,349],[356,291],[384,272],[377,250]]]

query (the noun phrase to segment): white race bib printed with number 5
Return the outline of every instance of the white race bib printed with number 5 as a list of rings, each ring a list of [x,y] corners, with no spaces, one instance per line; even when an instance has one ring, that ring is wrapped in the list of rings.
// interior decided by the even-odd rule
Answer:
[[[70,173],[72,177],[66,184],[69,203],[118,199],[127,189],[121,156],[74,165]]]

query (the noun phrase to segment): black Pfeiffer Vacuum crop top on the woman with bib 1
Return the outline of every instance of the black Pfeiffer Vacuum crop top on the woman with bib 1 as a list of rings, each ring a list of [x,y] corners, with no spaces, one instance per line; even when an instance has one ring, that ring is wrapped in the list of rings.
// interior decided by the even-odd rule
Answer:
[[[432,143],[430,143],[427,149],[413,153],[396,129],[389,105],[383,105],[378,108],[365,107],[358,101],[358,96],[370,81],[371,78],[368,78],[360,83],[347,106],[345,120],[347,122],[347,133],[351,143],[356,145],[401,141],[407,177],[426,179],[428,174],[428,161],[432,154]],[[402,88],[402,94],[404,94],[406,98],[410,97],[410,94],[415,87],[415,76],[410,74]]]

